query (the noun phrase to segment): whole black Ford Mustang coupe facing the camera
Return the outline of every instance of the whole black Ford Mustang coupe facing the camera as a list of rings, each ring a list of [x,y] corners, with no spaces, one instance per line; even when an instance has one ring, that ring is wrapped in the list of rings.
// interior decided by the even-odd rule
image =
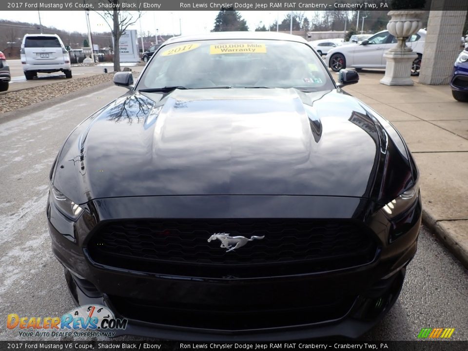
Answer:
[[[355,83],[340,72],[340,84]],[[79,305],[118,334],[357,337],[416,252],[418,170],[400,134],[303,39],[166,41],[62,146],[47,205]]]

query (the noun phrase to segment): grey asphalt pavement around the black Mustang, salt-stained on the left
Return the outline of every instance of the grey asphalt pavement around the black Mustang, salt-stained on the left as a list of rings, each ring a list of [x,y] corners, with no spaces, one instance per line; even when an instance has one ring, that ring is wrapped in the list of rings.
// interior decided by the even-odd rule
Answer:
[[[47,102],[19,118],[0,118],[1,318],[9,313],[60,316],[74,307],[50,249],[49,171],[70,131],[123,93],[112,86],[60,104]],[[24,340],[18,330],[4,327],[5,319],[0,340]],[[423,227],[400,298],[362,339],[415,340],[422,328],[442,327],[455,328],[452,340],[468,340],[468,271]],[[117,340],[123,339],[132,338]]]

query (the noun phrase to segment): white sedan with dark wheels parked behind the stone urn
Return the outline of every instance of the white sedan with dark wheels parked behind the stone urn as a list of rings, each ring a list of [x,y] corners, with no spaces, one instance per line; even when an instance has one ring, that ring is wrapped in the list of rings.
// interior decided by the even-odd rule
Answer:
[[[407,41],[407,45],[418,55],[413,61],[411,76],[419,75],[425,39],[426,31],[421,29]],[[342,45],[331,49],[325,58],[325,62],[335,72],[347,67],[356,69],[385,68],[387,60],[383,55],[395,44],[396,38],[389,31],[381,31],[369,39],[363,40],[361,44]]]

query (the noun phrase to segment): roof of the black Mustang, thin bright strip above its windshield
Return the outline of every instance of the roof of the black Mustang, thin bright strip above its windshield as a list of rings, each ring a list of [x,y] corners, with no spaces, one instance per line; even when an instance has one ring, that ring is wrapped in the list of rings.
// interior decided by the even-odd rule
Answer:
[[[167,39],[164,44],[213,39],[260,39],[260,40],[288,40],[307,43],[302,37],[277,32],[214,32],[198,35],[179,36]]]

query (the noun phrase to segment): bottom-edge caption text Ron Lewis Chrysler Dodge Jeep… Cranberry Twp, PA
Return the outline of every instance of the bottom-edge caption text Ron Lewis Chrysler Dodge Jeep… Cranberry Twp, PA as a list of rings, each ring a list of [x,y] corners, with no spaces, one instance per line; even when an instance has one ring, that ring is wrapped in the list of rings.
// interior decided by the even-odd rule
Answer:
[[[276,343],[276,344],[180,344],[180,349],[217,349],[217,350],[226,350],[226,349],[237,349],[237,350],[269,350],[269,349],[321,349],[326,350],[330,349],[370,349],[377,350],[379,347],[377,344],[347,344],[347,343],[335,343],[335,344],[297,344],[297,343]],[[387,344],[380,344],[379,349],[387,349]]]

